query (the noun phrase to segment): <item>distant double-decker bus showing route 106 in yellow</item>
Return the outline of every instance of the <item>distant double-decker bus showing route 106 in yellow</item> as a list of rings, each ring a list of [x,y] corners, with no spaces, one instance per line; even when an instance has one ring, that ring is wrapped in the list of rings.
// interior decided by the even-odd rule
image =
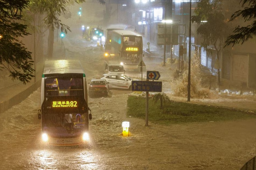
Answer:
[[[138,70],[143,62],[142,36],[129,30],[113,30],[111,36],[112,60],[119,60],[127,70]],[[145,64],[144,64],[145,65]]]

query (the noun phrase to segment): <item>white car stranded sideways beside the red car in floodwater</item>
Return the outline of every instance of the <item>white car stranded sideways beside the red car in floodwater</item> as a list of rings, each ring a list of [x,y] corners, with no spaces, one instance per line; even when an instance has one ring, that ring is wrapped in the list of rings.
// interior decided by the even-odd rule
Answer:
[[[102,79],[105,79],[110,88],[121,88],[121,89],[129,89],[131,90],[131,81],[132,79],[123,74],[104,74]]]

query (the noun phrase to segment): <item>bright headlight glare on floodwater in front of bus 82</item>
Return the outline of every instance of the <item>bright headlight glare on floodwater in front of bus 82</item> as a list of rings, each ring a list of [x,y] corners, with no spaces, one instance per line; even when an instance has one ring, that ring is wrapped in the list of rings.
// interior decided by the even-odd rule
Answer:
[[[47,146],[46,146],[47,147]],[[30,168],[42,170],[101,170],[97,152],[82,148],[48,147],[31,153]]]

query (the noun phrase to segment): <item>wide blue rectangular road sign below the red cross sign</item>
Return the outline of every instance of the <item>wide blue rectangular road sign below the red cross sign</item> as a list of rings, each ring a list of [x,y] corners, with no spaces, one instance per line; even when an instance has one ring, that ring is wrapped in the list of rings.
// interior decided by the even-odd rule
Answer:
[[[162,92],[162,82],[132,80],[132,91]]]

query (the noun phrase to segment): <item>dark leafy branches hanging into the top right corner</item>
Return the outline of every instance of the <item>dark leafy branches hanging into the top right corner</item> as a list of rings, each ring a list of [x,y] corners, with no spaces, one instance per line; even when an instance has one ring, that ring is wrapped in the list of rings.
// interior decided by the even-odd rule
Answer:
[[[230,44],[232,44],[232,46],[239,43],[243,44],[256,35],[256,0],[240,0],[240,4],[242,4],[244,9],[238,10],[232,14],[230,21],[242,16],[245,22],[251,22],[251,24],[247,26],[237,26],[233,31],[235,34],[228,36],[225,46]]]

